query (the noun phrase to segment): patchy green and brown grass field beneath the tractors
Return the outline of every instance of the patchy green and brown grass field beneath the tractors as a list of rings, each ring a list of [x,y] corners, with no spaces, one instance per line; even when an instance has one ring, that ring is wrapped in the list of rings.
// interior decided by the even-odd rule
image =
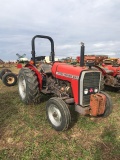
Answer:
[[[39,105],[24,105],[17,85],[7,87],[0,80],[0,159],[119,160],[120,93],[108,93],[114,104],[109,117],[78,115],[68,131],[56,132],[46,119],[48,97]]]

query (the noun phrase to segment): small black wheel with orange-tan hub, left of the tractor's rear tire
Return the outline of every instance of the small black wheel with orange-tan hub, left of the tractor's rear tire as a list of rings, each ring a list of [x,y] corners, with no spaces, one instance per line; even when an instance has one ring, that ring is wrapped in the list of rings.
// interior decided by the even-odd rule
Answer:
[[[17,83],[17,76],[14,73],[7,72],[2,76],[2,81],[6,86],[14,86]]]

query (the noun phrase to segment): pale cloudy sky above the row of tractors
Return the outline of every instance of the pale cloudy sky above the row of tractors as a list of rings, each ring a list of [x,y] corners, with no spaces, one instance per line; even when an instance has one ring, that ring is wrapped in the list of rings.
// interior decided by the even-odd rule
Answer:
[[[35,35],[53,38],[55,56],[85,54],[120,58],[120,0],[0,0],[0,59],[31,58]],[[50,42],[36,39],[36,56],[50,55]]]

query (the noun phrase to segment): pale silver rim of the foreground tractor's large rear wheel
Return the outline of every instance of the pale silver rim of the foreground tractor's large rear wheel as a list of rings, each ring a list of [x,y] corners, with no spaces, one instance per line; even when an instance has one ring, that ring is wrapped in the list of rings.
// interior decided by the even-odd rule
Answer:
[[[18,86],[20,96],[22,97],[22,99],[24,99],[26,96],[26,81],[24,76],[20,76]]]

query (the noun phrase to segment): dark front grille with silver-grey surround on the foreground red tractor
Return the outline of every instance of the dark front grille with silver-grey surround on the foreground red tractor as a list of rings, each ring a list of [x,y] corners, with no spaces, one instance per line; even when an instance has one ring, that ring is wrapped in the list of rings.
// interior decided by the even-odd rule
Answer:
[[[100,72],[85,71],[82,72],[80,79],[80,104],[87,106],[90,103],[90,95],[95,93],[95,89],[99,91]],[[87,90],[88,93],[84,93]]]

